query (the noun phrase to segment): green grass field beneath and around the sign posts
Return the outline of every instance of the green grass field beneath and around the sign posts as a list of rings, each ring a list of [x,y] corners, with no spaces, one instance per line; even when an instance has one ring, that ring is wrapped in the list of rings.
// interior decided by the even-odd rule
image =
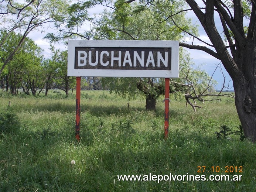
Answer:
[[[142,97],[128,101],[107,91],[81,94],[77,142],[75,95],[0,92],[0,192],[256,191],[256,147],[240,141],[232,99],[205,103],[194,113],[171,96],[169,137],[164,140],[163,98],[155,112],[147,112]],[[206,180],[158,183],[119,181],[117,176],[170,173],[205,175]],[[242,176],[241,181],[207,181],[210,175]]]

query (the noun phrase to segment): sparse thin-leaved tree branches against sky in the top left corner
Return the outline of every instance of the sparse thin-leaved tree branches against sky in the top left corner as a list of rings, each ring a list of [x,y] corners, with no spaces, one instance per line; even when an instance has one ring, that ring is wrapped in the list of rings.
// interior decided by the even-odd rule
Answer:
[[[31,0],[26,2],[28,3],[18,3],[15,0],[2,0],[0,2],[0,22],[4,26],[2,30],[5,32],[4,35],[2,33],[0,48],[12,32],[21,34],[16,47],[1,65],[0,74],[21,47],[27,35],[46,23],[61,21],[65,17],[68,5],[64,0]]]

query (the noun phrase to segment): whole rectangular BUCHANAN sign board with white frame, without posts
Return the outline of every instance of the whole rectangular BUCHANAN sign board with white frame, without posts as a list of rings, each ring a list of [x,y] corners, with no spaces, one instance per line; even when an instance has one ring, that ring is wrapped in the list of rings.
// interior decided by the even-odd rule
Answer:
[[[177,78],[178,41],[69,40],[68,76]]]

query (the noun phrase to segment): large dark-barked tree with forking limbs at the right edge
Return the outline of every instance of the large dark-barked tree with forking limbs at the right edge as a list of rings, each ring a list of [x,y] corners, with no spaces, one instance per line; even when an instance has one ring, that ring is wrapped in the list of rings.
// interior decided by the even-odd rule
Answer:
[[[188,10],[195,13],[212,44],[202,46],[181,42],[180,46],[204,51],[221,60],[233,80],[236,110],[245,136],[255,142],[256,1],[207,0],[203,1],[202,7],[199,7],[194,0],[186,0],[186,2],[190,6]],[[223,28],[221,31],[216,29],[214,16],[217,14]],[[225,39],[222,38],[222,32],[225,34]]]

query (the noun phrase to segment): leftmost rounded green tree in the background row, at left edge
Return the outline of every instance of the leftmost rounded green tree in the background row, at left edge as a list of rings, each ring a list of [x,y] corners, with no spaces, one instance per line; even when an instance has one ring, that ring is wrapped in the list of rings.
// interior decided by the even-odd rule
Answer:
[[[1,37],[5,37],[6,32],[1,31]],[[1,61],[4,63],[10,53],[17,47],[19,44],[19,38],[21,34],[16,34],[12,31],[4,44],[0,48]],[[10,92],[12,94],[17,94],[18,88],[22,87],[24,92],[27,92],[24,84],[27,84],[27,74],[30,74],[31,71],[36,69],[31,68],[31,66],[41,65],[41,52],[42,49],[38,47],[33,40],[26,37],[24,38],[23,43],[17,49],[16,54],[13,55],[10,61],[6,64],[6,90],[10,86]],[[35,64],[36,60],[40,60]]]

